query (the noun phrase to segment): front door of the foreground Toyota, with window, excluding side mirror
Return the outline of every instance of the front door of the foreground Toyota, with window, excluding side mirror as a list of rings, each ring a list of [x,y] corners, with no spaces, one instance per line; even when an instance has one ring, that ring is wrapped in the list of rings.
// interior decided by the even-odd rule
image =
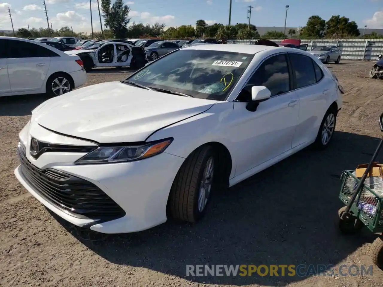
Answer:
[[[246,109],[252,86],[266,86],[272,95],[255,112]],[[229,132],[237,145],[236,176],[291,149],[298,111],[286,54],[274,55],[260,65],[234,101]]]

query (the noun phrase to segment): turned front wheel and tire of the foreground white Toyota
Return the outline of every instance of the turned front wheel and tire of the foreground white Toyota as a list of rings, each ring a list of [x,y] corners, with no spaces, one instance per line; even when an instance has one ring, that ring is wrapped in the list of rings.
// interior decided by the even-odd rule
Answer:
[[[187,157],[170,189],[168,207],[173,218],[197,222],[205,215],[211,194],[216,189],[216,162],[213,148],[208,145],[197,148]],[[211,176],[208,177],[211,183],[210,191],[207,190],[208,186],[206,189],[202,188],[202,181],[209,166],[212,167]]]

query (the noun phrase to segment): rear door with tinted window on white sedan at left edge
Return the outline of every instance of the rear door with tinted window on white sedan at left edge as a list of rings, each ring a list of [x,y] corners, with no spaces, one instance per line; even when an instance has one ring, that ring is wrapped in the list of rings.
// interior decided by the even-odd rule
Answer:
[[[10,40],[8,46],[8,75],[12,92],[40,90],[45,83],[50,57],[59,57],[51,50],[32,42]]]

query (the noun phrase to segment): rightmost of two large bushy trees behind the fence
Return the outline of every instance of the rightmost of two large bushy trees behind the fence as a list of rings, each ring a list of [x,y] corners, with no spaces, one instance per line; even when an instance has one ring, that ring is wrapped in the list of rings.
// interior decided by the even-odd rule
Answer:
[[[326,22],[326,36],[334,38],[359,36],[358,25],[355,21],[340,15],[331,16]]]

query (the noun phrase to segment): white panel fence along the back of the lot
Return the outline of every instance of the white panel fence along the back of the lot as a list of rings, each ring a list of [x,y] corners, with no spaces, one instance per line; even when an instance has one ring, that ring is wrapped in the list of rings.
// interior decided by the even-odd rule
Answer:
[[[257,40],[228,40],[228,44],[254,44]],[[281,42],[282,40],[272,40]],[[315,46],[337,46],[342,52],[342,59],[348,60],[378,60],[383,53],[383,39],[320,39],[301,40],[301,44],[308,44],[307,51]]]

